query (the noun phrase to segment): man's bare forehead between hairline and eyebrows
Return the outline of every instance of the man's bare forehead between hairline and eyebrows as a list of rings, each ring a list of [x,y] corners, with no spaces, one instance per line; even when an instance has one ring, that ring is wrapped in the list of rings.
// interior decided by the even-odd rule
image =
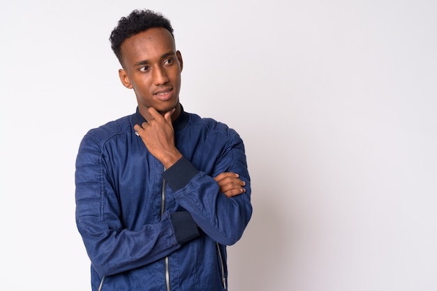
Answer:
[[[121,44],[121,56],[124,63],[151,61],[163,54],[175,52],[175,40],[163,27],[147,29],[124,40]]]

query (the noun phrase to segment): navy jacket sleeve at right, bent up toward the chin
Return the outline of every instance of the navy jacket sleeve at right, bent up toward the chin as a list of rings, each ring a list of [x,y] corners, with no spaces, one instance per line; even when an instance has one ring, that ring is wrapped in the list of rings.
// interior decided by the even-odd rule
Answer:
[[[213,177],[199,171],[182,157],[163,173],[175,191],[175,197],[191,213],[198,226],[219,244],[235,244],[243,235],[252,215],[251,184],[246,163],[244,143],[237,132],[229,129],[229,141],[215,166],[214,175],[238,173],[246,182],[246,192],[228,198],[220,192]]]

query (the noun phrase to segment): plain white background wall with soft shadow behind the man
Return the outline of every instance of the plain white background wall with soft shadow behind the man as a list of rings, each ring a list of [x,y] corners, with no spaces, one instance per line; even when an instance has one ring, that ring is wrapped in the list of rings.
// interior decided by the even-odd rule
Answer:
[[[90,289],[75,156],[135,110],[108,40],[135,8],[172,21],[186,111],[245,141],[230,290],[437,290],[431,0],[2,1],[1,290]]]

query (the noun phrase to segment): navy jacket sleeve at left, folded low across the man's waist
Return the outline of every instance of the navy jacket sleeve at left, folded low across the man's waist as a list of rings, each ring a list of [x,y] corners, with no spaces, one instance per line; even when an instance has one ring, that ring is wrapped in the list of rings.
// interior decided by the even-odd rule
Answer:
[[[124,228],[110,168],[93,136],[82,139],[76,159],[76,223],[91,264],[101,276],[147,265],[200,235],[188,212],[165,213],[139,230]]]

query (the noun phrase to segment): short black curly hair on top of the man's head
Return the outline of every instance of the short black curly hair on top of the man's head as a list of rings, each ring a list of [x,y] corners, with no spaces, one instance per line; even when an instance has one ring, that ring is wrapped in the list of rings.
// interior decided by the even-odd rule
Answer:
[[[127,17],[121,17],[110,36],[111,48],[121,63],[121,44],[137,33],[154,27],[163,27],[173,36],[172,24],[161,13],[152,10],[133,10]],[[175,38],[175,36],[173,36]]]

